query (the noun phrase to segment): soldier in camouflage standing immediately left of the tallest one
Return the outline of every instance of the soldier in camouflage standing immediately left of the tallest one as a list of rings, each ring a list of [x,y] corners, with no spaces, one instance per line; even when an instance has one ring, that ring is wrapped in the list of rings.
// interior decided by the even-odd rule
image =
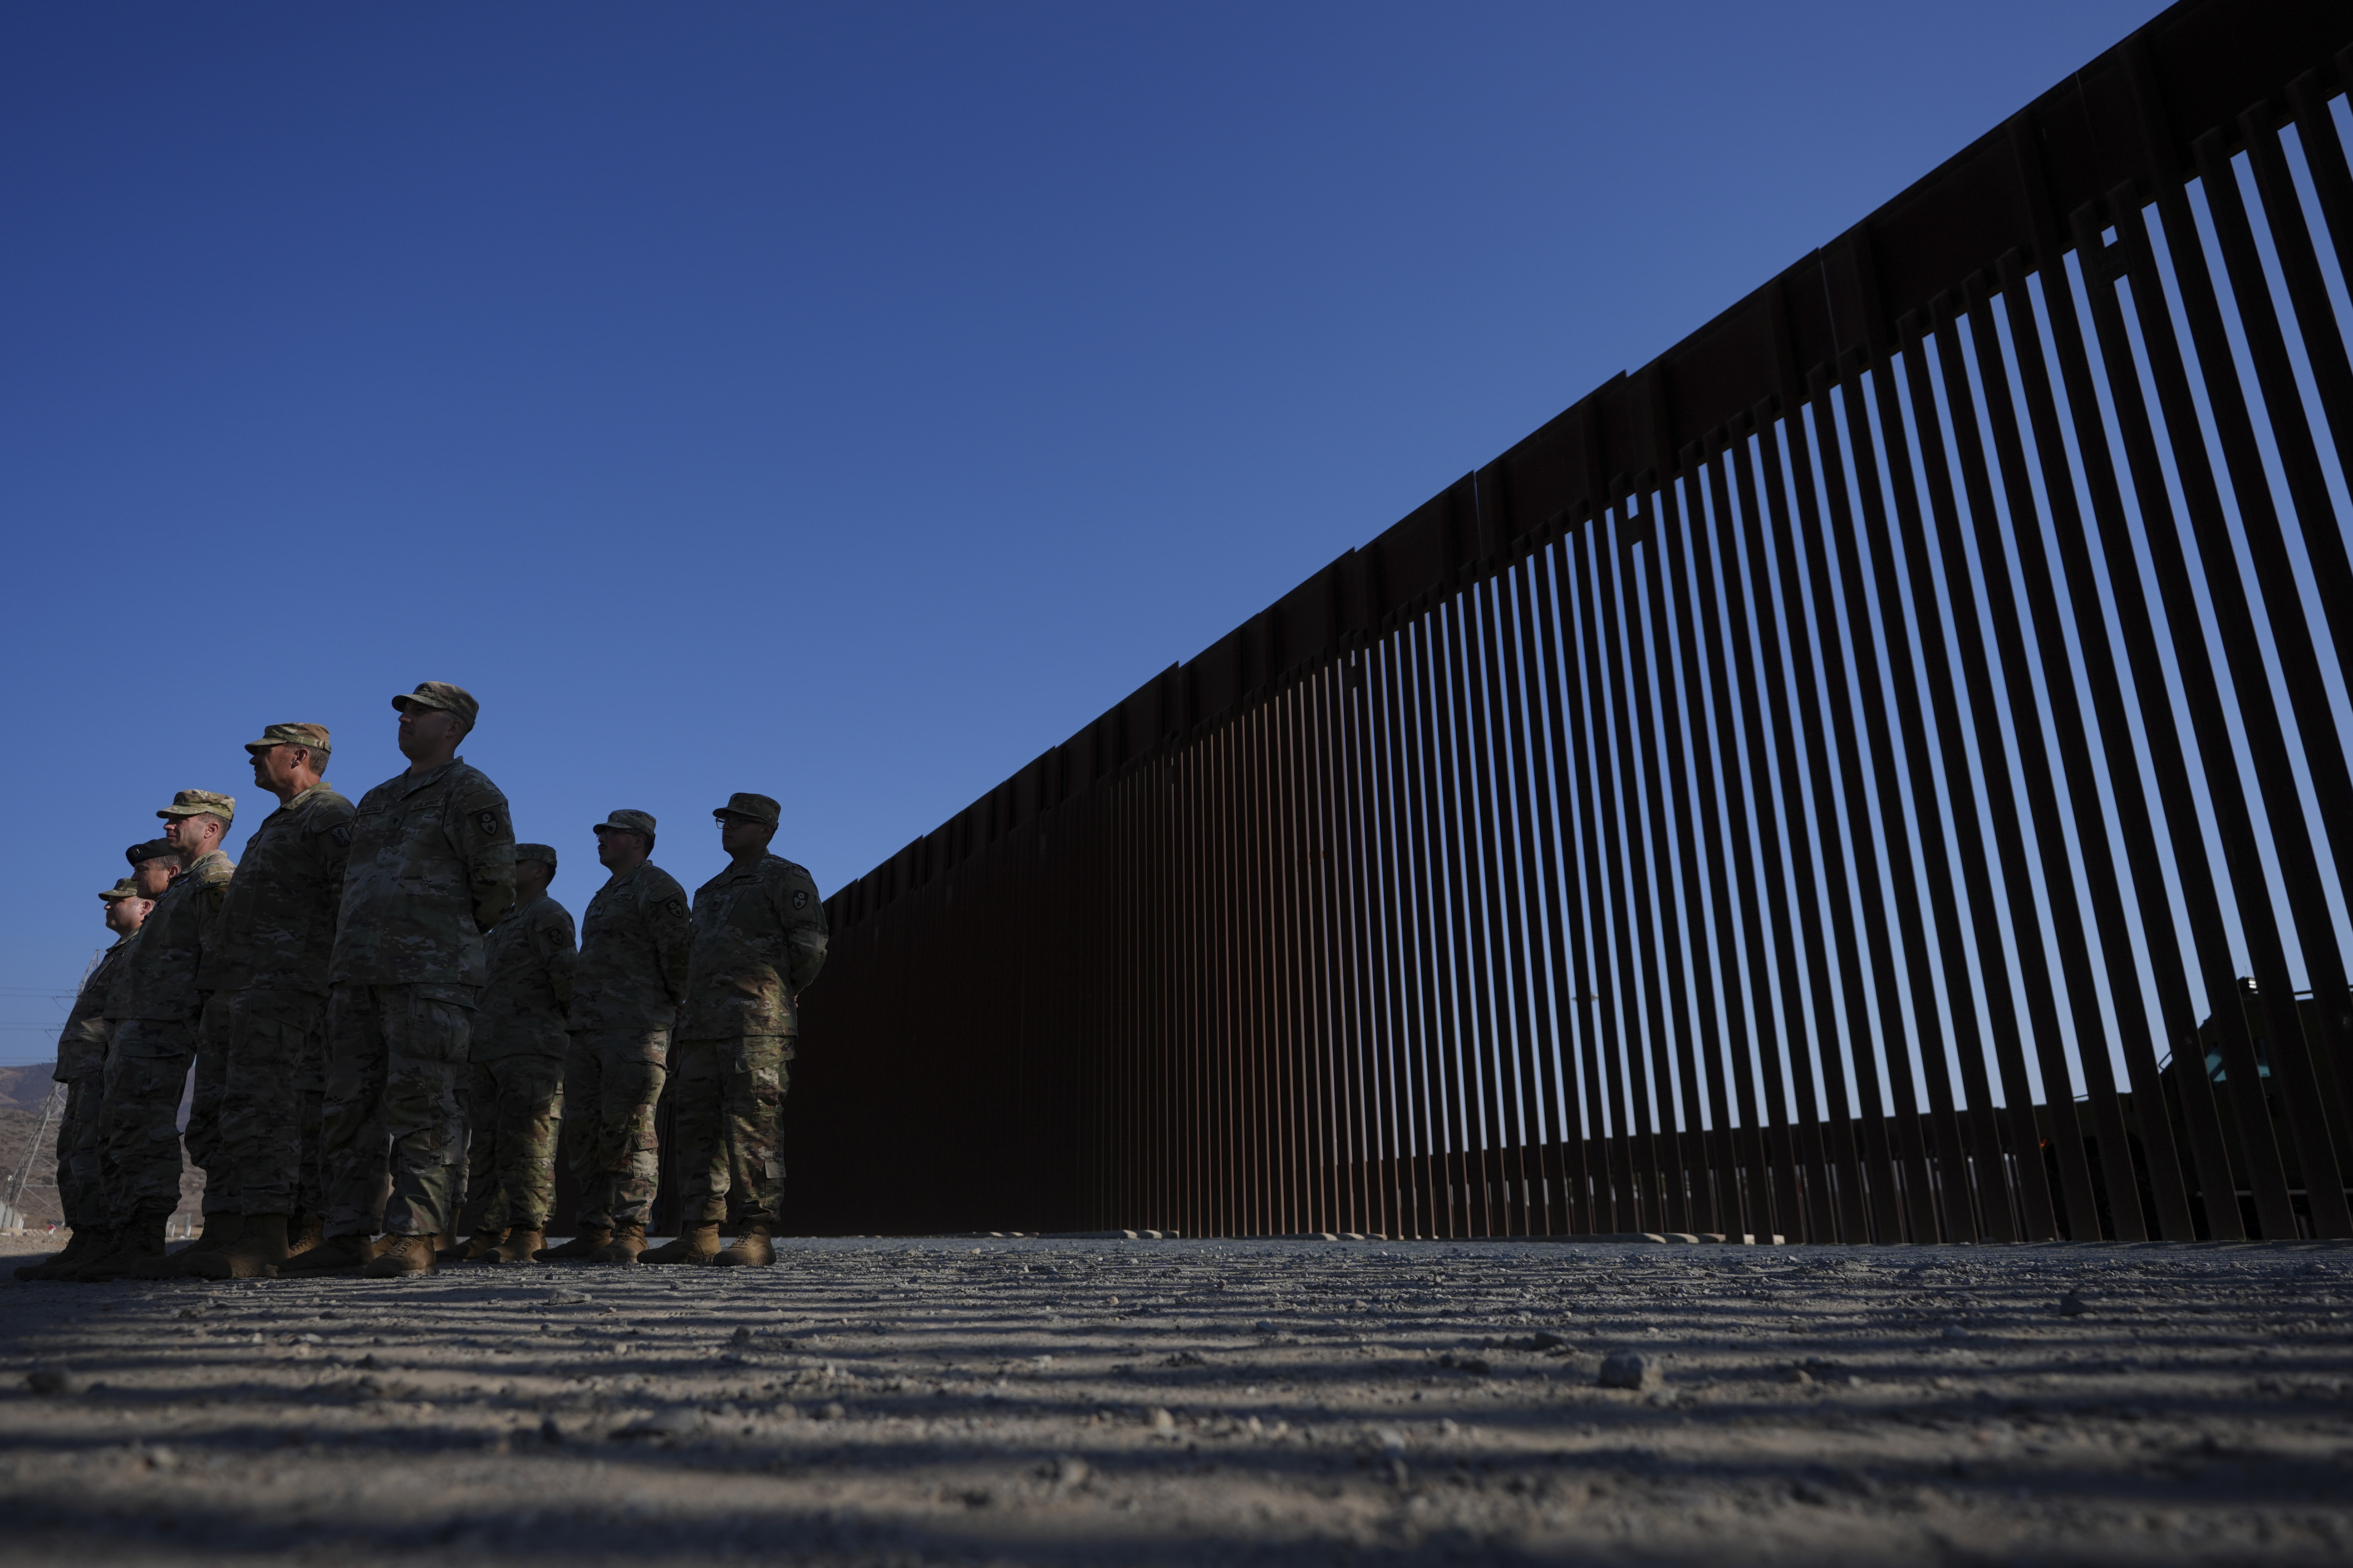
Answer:
[[[353,806],[325,778],[325,724],[268,724],[245,752],[278,811],[245,842],[205,954],[205,1048],[221,1058],[216,1164],[245,1220],[228,1246],[181,1253],[179,1272],[205,1279],[264,1276],[318,1244],[327,1222],[318,1175],[327,957]]]

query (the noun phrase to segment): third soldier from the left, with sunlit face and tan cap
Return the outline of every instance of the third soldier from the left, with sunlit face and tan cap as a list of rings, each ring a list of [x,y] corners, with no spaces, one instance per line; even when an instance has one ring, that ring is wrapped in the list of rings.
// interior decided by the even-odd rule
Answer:
[[[235,863],[221,839],[238,802],[212,790],[181,790],[158,811],[165,839],[179,851],[181,875],[162,891],[122,954],[108,985],[106,1016],[115,1018],[106,1053],[106,1222],[113,1246],[73,1279],[125,1279],[162,1260],[162,1227],[179,1208],[179,1093],[195,1056],[205,992],[198,976]],[[207,1215],[207,1229],[209,1215]]]

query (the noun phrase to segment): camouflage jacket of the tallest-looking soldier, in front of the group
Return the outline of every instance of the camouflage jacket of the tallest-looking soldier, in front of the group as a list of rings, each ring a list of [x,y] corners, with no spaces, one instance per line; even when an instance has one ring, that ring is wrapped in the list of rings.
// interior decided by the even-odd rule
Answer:
[[[464,757],[421,778],[386,778],[351,818],[327,978],[478,987],[482,933],[511,903],[515,830],[499,785]]]

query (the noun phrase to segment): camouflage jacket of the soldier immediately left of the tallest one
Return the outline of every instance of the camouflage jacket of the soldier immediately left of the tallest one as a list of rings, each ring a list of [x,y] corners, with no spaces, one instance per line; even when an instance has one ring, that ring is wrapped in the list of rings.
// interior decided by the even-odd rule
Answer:
[[[351,802],[334,785],[320,780],[271,811],[245,839],[198,983],[209,992],[325,997],[348,858]]]

